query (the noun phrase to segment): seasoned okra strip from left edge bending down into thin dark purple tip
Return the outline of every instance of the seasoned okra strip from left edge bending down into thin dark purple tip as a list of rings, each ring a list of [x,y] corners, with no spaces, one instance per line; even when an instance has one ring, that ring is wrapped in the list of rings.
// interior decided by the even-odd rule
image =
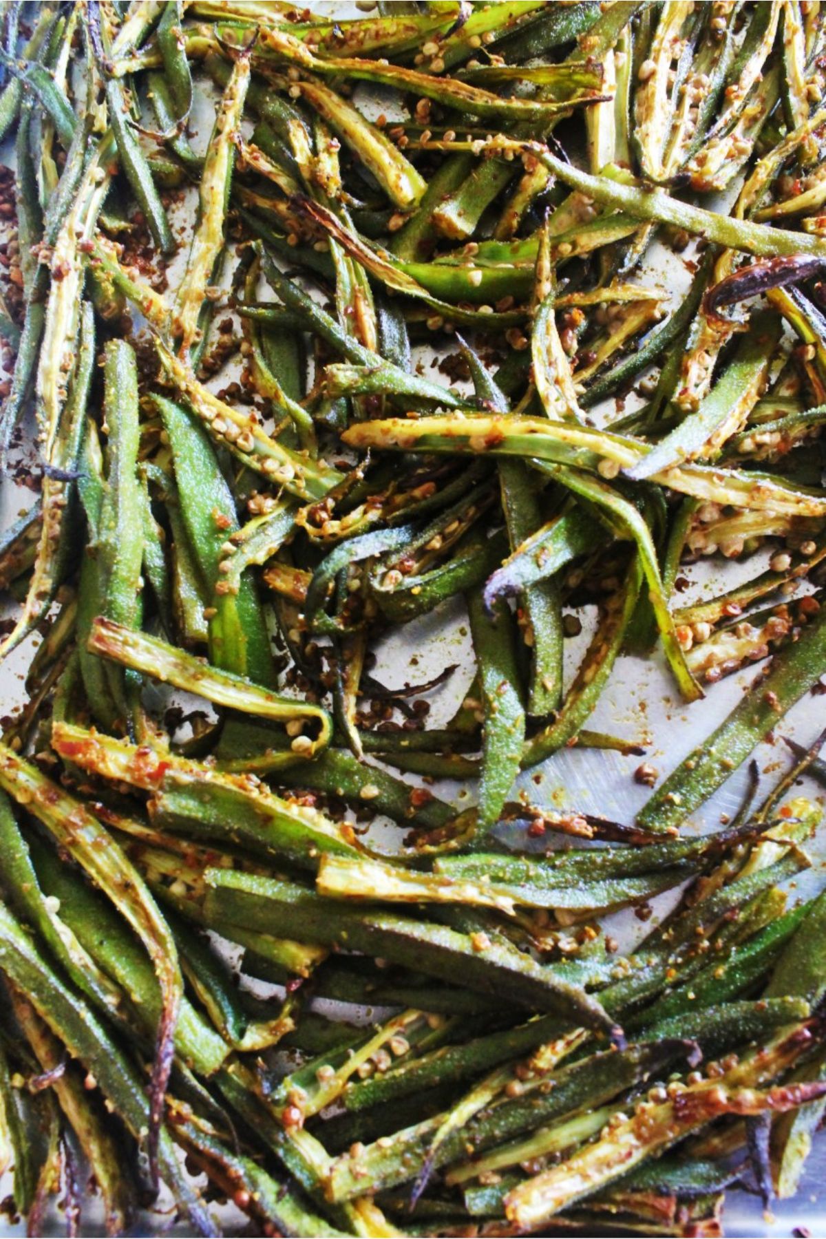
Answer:
[[[163,1100],[183,990],[175,940],[140,873],[84,804],[5,745],[0,745],[0,786],[17,802],[25,800],[27,812],[33,813],[59,846],[98,882],[152,960],[162,1002],[150,1085],[147,1149],[154,1175],[157,1175]]]

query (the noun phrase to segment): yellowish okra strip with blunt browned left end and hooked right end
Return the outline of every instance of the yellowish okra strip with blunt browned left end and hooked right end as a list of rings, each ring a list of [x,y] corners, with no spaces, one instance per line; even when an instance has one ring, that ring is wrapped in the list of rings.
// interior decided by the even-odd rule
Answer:
[[[332,722],[321,706],[279,696],[249,679],[209,667],[157,637],[135,632],[100,616],[92,624],[87,646],[102,658],[110,658],[123,667],[131,667],[154,679],[175,684],[176,688],[204,696],[228,710],[240,710],[276,721],[307,719],[318,722],[318,737],[307,751],[307,757],[329,743]]]

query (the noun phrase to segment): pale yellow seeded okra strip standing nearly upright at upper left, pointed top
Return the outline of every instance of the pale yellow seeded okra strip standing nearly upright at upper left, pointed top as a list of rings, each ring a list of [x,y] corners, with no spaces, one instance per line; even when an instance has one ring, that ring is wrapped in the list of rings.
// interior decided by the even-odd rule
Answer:
[[[224,222],[235,157],[234,135],[244,112],[249,78],[249,53],[240,55],[235,58],[232,77],[218,105],[214,129],[203,161],[198,190],[198,222],[172,310],[171,331],[182,357],[187,356],[197,339],[198,315],[224,248]]]

